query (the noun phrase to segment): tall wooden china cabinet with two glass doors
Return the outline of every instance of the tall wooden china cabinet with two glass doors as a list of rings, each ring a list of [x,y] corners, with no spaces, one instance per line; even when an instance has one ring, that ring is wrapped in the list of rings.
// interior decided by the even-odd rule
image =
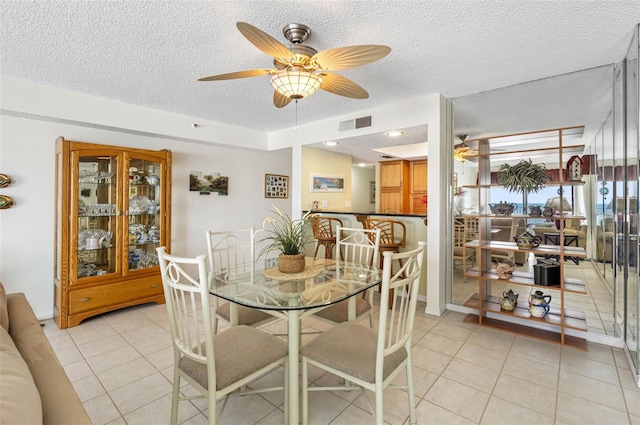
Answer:
[[[170,244],[171,151],[56,140],[54,315],[60,328],[164,303],[156,248]]]

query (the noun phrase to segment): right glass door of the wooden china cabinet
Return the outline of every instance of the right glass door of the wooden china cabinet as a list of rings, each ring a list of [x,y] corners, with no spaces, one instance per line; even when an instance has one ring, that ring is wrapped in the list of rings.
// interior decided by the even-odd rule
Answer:
[[[142,270],[158,265],[156,248],[162,234],[163,164],[150,159],[128,159],[127,269]]]

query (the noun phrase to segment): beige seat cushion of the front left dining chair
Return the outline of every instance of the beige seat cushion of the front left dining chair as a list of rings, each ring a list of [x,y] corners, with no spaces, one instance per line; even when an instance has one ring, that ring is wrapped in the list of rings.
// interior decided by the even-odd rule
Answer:
[[[246,378],[287,356],[288,346],[280,338],[250,326],[233,326],[213,336],[216,357],[216,391]],[[178,367],[204,388],[209,388],[207,365],[188,357]]]

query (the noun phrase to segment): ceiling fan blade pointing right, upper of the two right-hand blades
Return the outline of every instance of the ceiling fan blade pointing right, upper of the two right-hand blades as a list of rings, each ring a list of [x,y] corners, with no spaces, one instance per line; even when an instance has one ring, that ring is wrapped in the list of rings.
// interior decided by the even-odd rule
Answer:
[[[375,44],[338,47],[316,53],[311,58],[311,62],[315,60],[319,69],[337,71],[366,65],[382,59],[389,53],[391,53],[390,47]]]

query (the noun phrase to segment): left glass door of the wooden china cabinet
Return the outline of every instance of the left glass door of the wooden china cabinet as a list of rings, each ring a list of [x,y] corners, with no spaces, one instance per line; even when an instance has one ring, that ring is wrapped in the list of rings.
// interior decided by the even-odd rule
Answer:
[[[77,278],[118,273],[118,157],[77,155],[77,161]]]

